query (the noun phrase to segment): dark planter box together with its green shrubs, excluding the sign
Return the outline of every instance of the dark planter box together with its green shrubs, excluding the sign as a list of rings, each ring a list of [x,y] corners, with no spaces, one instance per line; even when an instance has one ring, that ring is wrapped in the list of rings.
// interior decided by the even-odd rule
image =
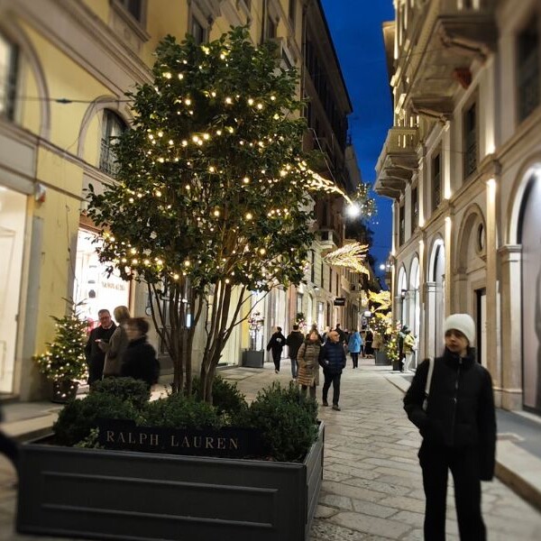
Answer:
[[[96,445],[98,419],[105,415],[143,431],[156,428],[149,423],[161,423],[162,430],[261,429],[265,453],[235,459],[87,448]],[[92,392],[62,410],[55,433],[69,445],[84,440],[83,446],[23,445],[20,532],[133,540],[308,538],[324,426],[316,424],[315,403],[293,387],[262,390],[250,407],[234,412],[179,395],[139,407],[115,392]]]

